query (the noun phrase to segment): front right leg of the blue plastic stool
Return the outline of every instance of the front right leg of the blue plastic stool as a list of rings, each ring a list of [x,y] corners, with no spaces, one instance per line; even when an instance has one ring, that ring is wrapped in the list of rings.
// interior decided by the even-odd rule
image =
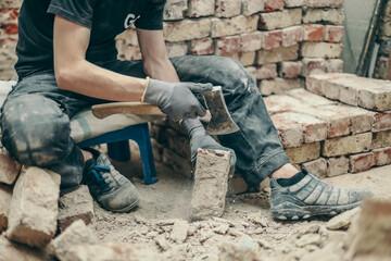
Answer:
[[[143,126],[141,126],[139,134],[140,135],[138,135],[138,137],[135,138],[135,141],[138,144],[140,148],[144,181],[147,184],[154,184],[159,181],[159,178],[156,176],[156,170],[154,166],[151,137],[149,134],[149,127],[147,123]]]

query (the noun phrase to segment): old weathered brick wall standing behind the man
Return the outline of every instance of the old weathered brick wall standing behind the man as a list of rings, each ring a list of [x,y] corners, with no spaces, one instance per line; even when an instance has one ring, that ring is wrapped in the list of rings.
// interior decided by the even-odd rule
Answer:
[[[15,62],[22,0],[0,0],[0,79]],[[239,60],[263,95],[303,87],[312,72],[340,72],[343,0],[167,0],[164,35],[171,57],[216,54]],[[118,36],[119,58],[140,59],[134,28]]]

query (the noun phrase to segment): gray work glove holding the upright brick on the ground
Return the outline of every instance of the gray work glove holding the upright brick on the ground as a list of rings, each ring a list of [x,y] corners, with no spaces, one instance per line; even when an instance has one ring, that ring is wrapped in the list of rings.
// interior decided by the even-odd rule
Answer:
[[[232,149],[223,147],[210,135],[207,135],[204,126],[198,119],[188,119],[184,121],[181,125],[186,128],[190,137],[191,164],[193,169],[195,167],[197,163],[198,149],[225,150],[230,152],[231,160],[229,175],[234,175],[237,158]]]

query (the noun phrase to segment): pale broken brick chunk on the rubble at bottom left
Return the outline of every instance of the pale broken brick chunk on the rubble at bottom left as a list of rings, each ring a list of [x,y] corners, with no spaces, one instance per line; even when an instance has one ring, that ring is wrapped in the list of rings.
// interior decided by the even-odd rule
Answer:
[[[59,260],[65,260],[66,253],[74,246],[94,245],[97,238],[81,221],[73,222],[66,231],[50,243],[50,248]]]

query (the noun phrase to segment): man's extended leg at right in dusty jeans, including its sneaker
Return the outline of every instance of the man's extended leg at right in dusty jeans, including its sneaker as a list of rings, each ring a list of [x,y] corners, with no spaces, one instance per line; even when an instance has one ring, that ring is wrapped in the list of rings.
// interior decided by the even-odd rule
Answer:
[[[220,57],[172,59],[180,80],[222,86],[228,110],[240,130],[218,136],[235,150],[237,169],[249,186],[270,177],[272,212],[280,220],[333,215],[360,204],[368,190],[340,189],[305,170],[298,172],[279,141],[278,133],[251,75],[237,61]]]

